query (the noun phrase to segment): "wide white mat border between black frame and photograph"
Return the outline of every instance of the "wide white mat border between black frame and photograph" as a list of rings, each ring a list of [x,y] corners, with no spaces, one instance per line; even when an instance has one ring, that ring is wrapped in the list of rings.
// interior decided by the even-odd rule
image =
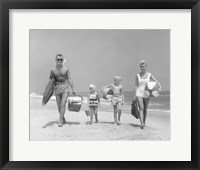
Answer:
[[[9,19],[10,161],[191,161],[191,10],[14,9]],[[29,29],[170,29],[171,140],[29,141]]]

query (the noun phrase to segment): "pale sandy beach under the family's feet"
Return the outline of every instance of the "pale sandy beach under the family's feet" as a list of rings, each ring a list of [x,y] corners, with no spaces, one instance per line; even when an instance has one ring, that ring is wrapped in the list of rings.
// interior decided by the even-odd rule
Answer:
[[[122,111],[121,124],[114,124],[112,106],[101,106],[99,123],[88,124],[87,105],[80,112],[69,112],[67,123],[58,127],[58,111],[54,100],[42,107],[41,100],[30,100],[31,141],[114,141],[170,140],[170,112],[148,111],[146,127],[140,129],[139,119],[130,114],[130,106]]]

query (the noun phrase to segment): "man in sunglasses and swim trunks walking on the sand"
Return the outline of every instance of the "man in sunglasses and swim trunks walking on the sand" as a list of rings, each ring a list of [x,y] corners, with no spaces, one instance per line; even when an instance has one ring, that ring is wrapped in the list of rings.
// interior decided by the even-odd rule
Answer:
[[[64,58],[62,54],[56,55],[56,66],[50,71],[49,78],[55,78],[55,96],[56,102],[59,111],[59,120],[58,126],[62,127],[63,123],[66,123],[64,114],[65,114],[65,106],[69,94],[69,85],[74,91],[73,81],[70,76],[69,68],[64,66]]]

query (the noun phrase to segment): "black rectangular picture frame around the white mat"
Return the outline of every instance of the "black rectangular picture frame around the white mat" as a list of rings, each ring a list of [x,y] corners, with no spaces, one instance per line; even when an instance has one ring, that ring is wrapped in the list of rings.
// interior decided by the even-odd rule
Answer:
[[[198,124],[200,123],[199,113],[199,17],[200,17],[200,2],[198,0],[181,0],[181,1],[145,1],[145,0],[116,0],[116,1],[54,1],[54,0],[2,0],[0,3],[0,25],[1,25],[1,40],[0,40],[0,63],[1,63],[1,90],[0,90],[0,166],[1,169],[200,169],[200,146],[199,137],[200,129]],[[191,70],[191,161],[127,161],[127,162],[111,162],[111,161],[9,161],[9,111],[12,109],[9,107],[10,92],[9,92],[9,10],[10,9],[191,9],[191,43],[192,43],[192,70]],[[133,153],[134,154],[134,153]]]

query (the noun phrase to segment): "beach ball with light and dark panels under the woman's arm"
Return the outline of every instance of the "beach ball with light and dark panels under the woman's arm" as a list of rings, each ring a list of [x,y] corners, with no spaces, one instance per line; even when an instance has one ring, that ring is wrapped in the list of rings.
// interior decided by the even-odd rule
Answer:
[[[148,82],[145,86],[145,94],[149,97],[158,97],[159,96],[159,84],[155,81]]]

